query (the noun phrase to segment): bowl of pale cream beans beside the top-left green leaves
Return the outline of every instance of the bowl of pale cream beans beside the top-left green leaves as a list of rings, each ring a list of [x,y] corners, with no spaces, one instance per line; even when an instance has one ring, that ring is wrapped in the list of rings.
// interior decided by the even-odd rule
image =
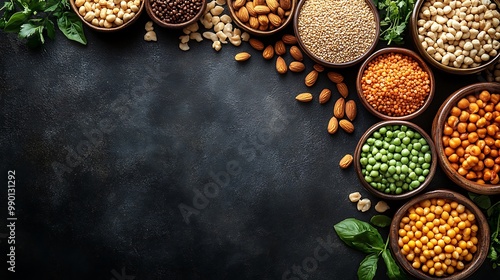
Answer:
[[[70,0],[82,22],[102,32],[118,31],[134,23],[144,10],[145,0]]]

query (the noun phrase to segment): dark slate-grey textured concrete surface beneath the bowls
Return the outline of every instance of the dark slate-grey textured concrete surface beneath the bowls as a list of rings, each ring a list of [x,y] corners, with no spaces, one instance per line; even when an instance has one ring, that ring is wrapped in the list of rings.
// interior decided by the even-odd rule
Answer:
[[[58,32],[28,50],[0,33],[0,237],[9,170],[17,217],[16,273],[1,238],[1,279],[356,279],[364,255],[333,225],[376,214],[349,193],[379,199],[338,162],[378,119],[358,103],[355,132],[331,136],[332,100],[294,100],[324,87],[339,96],[325,73],[304,85],[311,60],[279,75],[248,43],[183,52],[180,31],[156,27],[158,42],[145,42],[147,20],[116,34],[86,28],[87,46]],[[240,51],[251,59],[235,62]],[[358,66],[340,70],[356,101]],[[429,133],[441,102],[481,80],[434,71],[436,97],[414,120]],[[437,188],[460,191],[440,170]],[[376,278],[385,271],[380,262]],[[471,277],[495,278],[489,261]]]

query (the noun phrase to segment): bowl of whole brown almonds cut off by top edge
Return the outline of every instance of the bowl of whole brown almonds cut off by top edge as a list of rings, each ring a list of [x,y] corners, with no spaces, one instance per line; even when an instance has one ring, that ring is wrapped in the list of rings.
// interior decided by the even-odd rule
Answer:
[[[269,36],[292,22],[297,0],[227,0],[236,25],[255,36]]]

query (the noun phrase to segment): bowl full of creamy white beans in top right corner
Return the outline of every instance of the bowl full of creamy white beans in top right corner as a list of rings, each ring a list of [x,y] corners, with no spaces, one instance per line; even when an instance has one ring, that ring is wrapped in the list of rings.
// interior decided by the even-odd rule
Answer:
[[[422,57],[448,73],[478,73],[500,57],[500,12],[494,0],[418,0],[410,30]]]

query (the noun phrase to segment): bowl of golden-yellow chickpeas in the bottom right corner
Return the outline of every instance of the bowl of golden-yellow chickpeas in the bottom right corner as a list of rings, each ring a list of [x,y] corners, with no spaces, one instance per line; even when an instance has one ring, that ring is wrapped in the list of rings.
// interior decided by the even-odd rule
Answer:
[[[396,261],[412,276],[459,280],[470,277],[486,259],[490,229],[470,199],[435,190],[398,209],[389,239]]]

